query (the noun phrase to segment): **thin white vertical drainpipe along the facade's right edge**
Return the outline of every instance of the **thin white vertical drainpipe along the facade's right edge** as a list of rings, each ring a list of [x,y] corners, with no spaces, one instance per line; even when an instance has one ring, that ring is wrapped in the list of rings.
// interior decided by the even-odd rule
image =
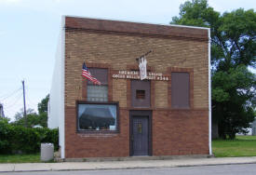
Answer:
[[[208,46],[208,57],[209,57],[209,155],[212,155],[211,149],[211,77],[210,77],[210,28],[209,34],[209,46]]]

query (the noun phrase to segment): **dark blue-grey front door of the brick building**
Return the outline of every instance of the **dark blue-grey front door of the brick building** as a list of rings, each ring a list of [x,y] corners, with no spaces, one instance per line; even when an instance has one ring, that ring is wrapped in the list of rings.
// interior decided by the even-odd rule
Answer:
[[[132,116],[132,155],[149,154],[148,116]]]

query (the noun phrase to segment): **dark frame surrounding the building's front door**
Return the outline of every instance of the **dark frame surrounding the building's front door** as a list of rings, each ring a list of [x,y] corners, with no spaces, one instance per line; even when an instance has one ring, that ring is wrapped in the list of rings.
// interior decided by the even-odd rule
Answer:
[[[129,156],[133,156],[133,141],[132,128],[133,117],[147,116],[148,117],[148,155],[152,156],[152,111],[149,110],[130,110],[129,111]]]

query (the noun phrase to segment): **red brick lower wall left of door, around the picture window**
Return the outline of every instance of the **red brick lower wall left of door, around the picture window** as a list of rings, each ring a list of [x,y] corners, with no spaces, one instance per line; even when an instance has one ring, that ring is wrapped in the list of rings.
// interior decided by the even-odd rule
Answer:
[[[120,110],[119,133],[79,133],[76,131],[76,110],[65,107],[65,156],[108,157],[129,155],[128,111]]]

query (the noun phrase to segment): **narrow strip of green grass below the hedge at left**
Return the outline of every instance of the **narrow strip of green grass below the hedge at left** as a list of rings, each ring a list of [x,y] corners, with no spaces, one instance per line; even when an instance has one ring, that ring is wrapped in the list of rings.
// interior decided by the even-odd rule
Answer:
[[[34,155],[0,155],[0,163],[34,163],[41,162],[40,154]]]

